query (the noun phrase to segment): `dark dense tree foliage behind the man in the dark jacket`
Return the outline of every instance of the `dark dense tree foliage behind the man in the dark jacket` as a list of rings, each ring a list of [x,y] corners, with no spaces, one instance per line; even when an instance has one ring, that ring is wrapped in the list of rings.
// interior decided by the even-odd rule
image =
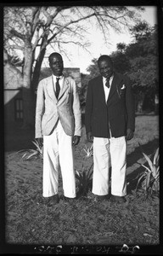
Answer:
[[[149,107],[158,94],[158,33],[157,26],[151,27],[146,22],[139,22],[130,29],[134,40],[131,44],[117,44],[117,49],[110,56],[115,71],[129,76],[138,102],[148,98]],[[97,59],[87,68],[89,77],[98,75]]]

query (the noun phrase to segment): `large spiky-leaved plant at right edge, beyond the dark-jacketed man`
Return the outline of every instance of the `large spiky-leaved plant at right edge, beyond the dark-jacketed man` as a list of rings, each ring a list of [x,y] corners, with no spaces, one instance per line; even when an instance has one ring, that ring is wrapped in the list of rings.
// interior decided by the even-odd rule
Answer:
[[[158,192],[160,190],[159,148],[157,148],[155,151],[153,161],[149,158],[147,154],[143,153],[143,156],[147,160],[149,166],[144,166],[143,164],[141,165],[144,167],[145,172],[143,172],[139,177],[136,190],[138,189],[139,183],[142,182],[142,189],[145,190],[147,193],[150,192],[150,194],[152,194],[154,190],[155,192]]]

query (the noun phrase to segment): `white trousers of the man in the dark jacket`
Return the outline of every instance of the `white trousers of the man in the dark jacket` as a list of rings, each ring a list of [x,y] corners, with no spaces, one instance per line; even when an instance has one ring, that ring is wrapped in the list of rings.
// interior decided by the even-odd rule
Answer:
[[[126,195],[126,137],[93,138],[93,194]]]

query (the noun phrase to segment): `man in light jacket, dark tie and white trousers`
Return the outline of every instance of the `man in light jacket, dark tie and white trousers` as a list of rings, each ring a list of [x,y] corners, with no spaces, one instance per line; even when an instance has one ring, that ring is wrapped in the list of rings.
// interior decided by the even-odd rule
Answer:
[[[63,75],[62,56],[55,52],[48,61],[53,74],[38,84],[35,137],[43,142],[43,199],[55,204],[59,202],[59,169],[65,199],[76,198],[72,145],[82,136],[82,114],[75,80]]]

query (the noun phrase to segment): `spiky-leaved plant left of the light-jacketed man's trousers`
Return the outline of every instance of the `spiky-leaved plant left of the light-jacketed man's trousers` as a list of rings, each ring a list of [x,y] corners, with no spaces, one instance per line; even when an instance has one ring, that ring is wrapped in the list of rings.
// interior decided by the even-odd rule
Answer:
[[[25,160],[29,160],[32,157],[40,157],[41,159],[43,159],[43,145],[41,147],[37,140],[32,141],[32,143],[36,146],[36,149],[22,149],[17,153],[25,152],[25,154],[23,154],[22,156],[22,158],[24,158]]]

